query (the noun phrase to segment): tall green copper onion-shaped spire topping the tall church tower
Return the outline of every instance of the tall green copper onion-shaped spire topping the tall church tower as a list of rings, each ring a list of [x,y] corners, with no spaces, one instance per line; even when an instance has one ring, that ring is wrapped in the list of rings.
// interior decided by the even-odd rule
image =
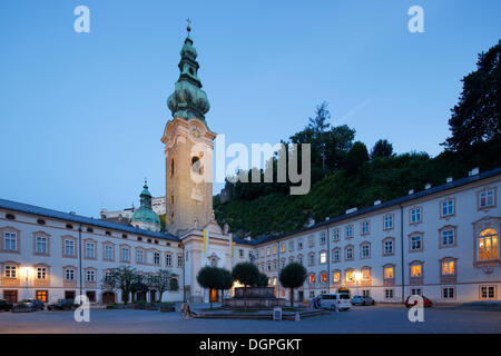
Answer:
[[[167,99],[167,106],[173,112],[173,117],[184,119],[198,118],[204,123],[205,115],[210,109],[207,93],[202,90],[200,79],[197,77],[198,62],[196,61],[197,51],[193,47],[193,40],[188,37],[180,51],[179,79],[176,82],[175,90]]]

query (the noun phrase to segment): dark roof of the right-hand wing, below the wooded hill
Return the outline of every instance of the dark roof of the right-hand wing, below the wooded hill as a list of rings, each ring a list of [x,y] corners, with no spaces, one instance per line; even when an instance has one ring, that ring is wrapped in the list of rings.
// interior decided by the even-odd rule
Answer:
[[[430,189],[421,190],[421,191],[414,192],[414,194],[409,195],[409,196],[404,196],[404,197],[400,197],[400,198],[396,198],[396,199],[393,199],[393,200],[389,200],[389,201],[382,202],[380,205],[375,205],[375,206],[371,206],[371,207],[367,207],[367,208],[363,208],[363,209],[356,210],[356,211],[351,212],[351,214],[340,215],[340,216],[337,216],[335,218],[331,218],[328,220],[325,220],[325,221],[322,221],[322,222],[317,222],[317,224],[315,224],[313,226],[302,228],[302,229],[299,229],[297,231],[294,231],[294,233],[278,235],[278,236],[265,236],[265,237],[262,237],[262,238],[259,238],[257,240],[252,240],[252,241],[239,239],[238,243],[243,244],[243,245],[256,246],[256,245],[261,245],[261,244],[265,244],[265,243],[279,240],[279,239],[283,239],[284,237],[292,236],[292,235],[295,235],[295,234],[298,234],[298,233],[306,233],[308,230],[313,230],[313,229],[318,228],[318,227],[328,226],[331,224],[343,221],[343,220],[346,220],[346,219],[351,219],[351,218],[360,216],[360,215],[364,215],[364,214],[367,214],[367,212],[376,211],[376,210],[384,209],[384,208],[387,208],[387,207],[392,207],[392,206],[395,206],[395,205],[404,204],[404,202],[407,202],[407,201],[411,201],[411,200],[414,200],[414,199],[423,198],[423,197],[426,197],[426,196],[430,196],[430,195],[433,195],[433,194],[436,194],[436,192],[445,191],[445,190],[449,190],[449,189],[461,187],[461,186],[464,186],[464,185],[468,185],[468,184],[471,184],[471,182],[474,182],[474,181],[478,181],[478,180],[495,177],[495,176],[499,176],[499,175],[501,175],[501,167],[492,169],[492,170],[488,170],[488,171],[484,171],[484,172],[481,172],[479,175],[469,176],[469,177],[465,177],[465,178],[453,180],[451,182],[446,182],[444,185],[440,185],[440,186],[436,186],[436,187],[433,187],[433,188],[430,188]]]

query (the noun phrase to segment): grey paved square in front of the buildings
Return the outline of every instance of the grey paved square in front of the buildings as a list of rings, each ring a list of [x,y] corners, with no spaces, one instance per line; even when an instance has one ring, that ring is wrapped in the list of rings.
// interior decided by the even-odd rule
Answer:
[[[76,323],[71,312],[0,313],[0,333],[501,333],[501,312],[432,307],[423,323],[411,323],[396,305],[353,307],[348,312],[303,319],[184,320],[178,313],[91,309],[90,323]]]

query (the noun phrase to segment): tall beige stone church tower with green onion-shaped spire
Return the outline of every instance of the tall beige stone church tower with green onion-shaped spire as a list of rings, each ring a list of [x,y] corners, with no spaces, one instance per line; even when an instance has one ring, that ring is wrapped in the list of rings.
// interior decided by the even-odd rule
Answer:
[[[198,78],[197,51],[189,37],[180,51],[179,79],[167,99],[173,113],[164,130],[166,164],[166,228],[183,235],[202,229],[214,220],[213,211],[213,140],[205,115],[209,110],[207,95]]]

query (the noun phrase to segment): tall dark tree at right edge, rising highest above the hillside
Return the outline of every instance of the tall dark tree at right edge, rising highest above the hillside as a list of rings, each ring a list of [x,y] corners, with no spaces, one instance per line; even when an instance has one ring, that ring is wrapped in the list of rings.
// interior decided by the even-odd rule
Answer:
[[[479,55],[477,70],[462,79],[463,91],[451,110],[446,149],[462,151],[501,138],[501,40]]]

